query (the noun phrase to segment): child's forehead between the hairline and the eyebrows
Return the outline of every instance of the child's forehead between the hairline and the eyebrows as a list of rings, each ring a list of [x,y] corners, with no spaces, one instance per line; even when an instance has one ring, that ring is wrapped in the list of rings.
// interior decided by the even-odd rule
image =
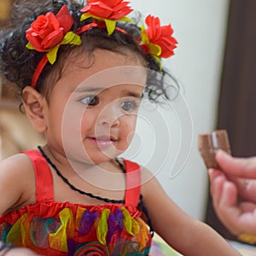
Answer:
[[[62,68],[62,75],[81,75],[89,84],[145,84],[147,68],[139,58],[105,49],[91,54],[70,55]],[[82,81],[81,81],[82,82]]]

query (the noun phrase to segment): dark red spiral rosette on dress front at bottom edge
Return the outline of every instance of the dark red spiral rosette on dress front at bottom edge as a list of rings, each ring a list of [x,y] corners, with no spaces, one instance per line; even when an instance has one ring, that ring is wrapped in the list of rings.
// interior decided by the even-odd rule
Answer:
[[[75,253],[74,256],[108,256],[108,247],[102,245],[98,241],[91,241],[84,243],[84,245],[80,246]]]

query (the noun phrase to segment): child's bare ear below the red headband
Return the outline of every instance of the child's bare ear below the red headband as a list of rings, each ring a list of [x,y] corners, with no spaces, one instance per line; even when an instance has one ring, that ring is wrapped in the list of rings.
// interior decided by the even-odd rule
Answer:
[[[47,102],[44,96],[31,86],[26,86],[22,91],[22,102],[33,129],[38,132],[46,131],[44,108]]]

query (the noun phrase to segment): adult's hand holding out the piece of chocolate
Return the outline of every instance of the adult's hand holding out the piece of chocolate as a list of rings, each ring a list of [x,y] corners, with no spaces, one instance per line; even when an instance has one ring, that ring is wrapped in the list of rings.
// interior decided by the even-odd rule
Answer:
[[[234,235],[256,230],[256,158],[234,158],[223,151],[220,170],[210,170],[211,194],[218,218]]]

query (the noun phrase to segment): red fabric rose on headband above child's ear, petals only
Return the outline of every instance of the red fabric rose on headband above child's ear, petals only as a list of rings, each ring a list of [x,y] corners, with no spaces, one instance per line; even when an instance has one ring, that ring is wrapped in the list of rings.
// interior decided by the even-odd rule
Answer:
[[[73,18],[64,5],[57,15],[47,13],[38,16],[26,31],[26,39],[33,48],[44,52],[55,47],[65,37],[73,25]]]

